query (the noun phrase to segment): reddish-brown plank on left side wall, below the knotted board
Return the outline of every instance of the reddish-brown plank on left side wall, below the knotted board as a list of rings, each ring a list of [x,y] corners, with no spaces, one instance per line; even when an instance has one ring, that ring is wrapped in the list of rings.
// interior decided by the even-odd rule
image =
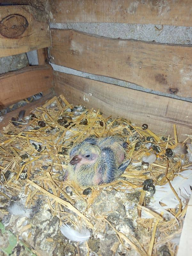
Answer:
[[[0,107],[8,106],[53,86],[50,65],[31,66],[0,75]]]

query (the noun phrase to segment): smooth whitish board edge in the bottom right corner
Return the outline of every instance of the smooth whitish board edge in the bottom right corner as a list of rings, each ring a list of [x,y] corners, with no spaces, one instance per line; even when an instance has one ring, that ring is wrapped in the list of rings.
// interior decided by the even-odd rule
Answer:
[[[190,197],[190,200],[188,202],[188,208],[187,213],[185,216],[180,243],[179,243],[179,249],[177,252],[177,256],[180,255],[191,255],[192,251],[192,196]]]

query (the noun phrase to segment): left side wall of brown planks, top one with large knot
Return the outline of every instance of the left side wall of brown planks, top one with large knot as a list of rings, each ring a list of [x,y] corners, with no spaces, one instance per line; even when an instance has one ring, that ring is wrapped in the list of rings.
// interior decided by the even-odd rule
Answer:
[[[39,62],[39,66],[0,75],[1,109],[39,92],[44,92],[45,98],[51,95],[53,70],[45,65],[48,54],[44,48],[51,45],[49,16],[44,8],[38,8],[41,5],[31,3],[18,1],[18,5],[0,6],[0,57],[37,50]]]

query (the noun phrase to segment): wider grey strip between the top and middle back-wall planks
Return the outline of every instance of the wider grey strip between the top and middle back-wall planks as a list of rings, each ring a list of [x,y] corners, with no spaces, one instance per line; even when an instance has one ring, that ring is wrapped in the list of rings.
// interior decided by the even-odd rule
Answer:
[[[156,27],[155,27],[156,26]],[[192,44],[192,27],[127,23],[50,23],[50,28],[74,29],[110,38],[135,39],[163,44]]]

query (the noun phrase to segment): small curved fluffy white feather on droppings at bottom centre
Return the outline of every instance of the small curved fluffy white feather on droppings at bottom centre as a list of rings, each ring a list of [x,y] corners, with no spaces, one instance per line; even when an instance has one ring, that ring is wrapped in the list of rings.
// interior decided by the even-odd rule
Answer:
[[[71,241],[83,243],[87,241],[91,235],[89,229],[81,229],[79,231],[71,228],[68,224],[60,227],[61,233]]]

